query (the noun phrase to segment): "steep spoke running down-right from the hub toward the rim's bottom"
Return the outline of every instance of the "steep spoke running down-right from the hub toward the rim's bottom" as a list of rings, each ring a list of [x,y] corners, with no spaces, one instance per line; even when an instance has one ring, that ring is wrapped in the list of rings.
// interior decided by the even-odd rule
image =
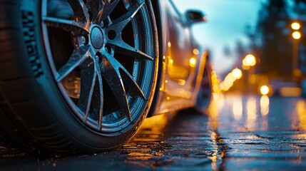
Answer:
[[[103,60],[103,65],[105,66],[105,73],[103,77],[106,79],[108,86],[111,88],[113,95],[115,95],[116,100],[119,105],[119,113],[121,115],[126,115],[128,120],[132,120],[130,107],[128,105],[128,99],[126,97],[126,90],[121,79],[118,66],[113,66],[111,61],[107,59]]]

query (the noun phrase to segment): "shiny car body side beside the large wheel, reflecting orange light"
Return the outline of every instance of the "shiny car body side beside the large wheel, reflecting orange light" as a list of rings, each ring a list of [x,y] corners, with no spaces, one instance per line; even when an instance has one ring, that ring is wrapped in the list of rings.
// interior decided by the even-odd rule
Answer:
[[[160,25],[161,60],[160,86],[154,114],[190,108],[200,88],[207,53],[204,53],[188,24],[170,0],[156,1],[156,14]],[[196,53],[193,53],[195,49]],[[193,63],[190,63],[192,58]]]

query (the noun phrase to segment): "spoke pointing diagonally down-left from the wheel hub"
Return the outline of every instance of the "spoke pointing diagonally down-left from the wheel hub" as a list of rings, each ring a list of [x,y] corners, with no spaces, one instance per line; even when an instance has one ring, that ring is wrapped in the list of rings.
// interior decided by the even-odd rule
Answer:
[[[56,73],[56,81],[58,83],[61,82],[77,66],[80,66],[86,60],[87,56],[89,56],[89,46],[80,46],[74,50],[68,62]]]

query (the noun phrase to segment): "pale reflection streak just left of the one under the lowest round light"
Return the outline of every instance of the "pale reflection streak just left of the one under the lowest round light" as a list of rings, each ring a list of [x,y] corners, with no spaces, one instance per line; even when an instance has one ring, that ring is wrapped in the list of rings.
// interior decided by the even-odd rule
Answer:
[[[257,110],[256,110],[256,100],[255,98],[248,98],[247,102],[247,125],[246,127],[249,130],[253,130],[255,128],[255,122],[257,119]]]

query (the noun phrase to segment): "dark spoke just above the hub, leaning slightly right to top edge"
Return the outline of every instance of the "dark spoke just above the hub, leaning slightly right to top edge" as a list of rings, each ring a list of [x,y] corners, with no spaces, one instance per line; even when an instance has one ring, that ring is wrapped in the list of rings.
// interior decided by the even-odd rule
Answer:
[[[98,15],[96,16],[96,23],[101,23],[101,21],[107,19],[107,17],[111,14],[113,9],[117,6],[118,2],[120,0],[113,0],[112,2],[109,0],[103,0],[103,7],[98,12]]]

